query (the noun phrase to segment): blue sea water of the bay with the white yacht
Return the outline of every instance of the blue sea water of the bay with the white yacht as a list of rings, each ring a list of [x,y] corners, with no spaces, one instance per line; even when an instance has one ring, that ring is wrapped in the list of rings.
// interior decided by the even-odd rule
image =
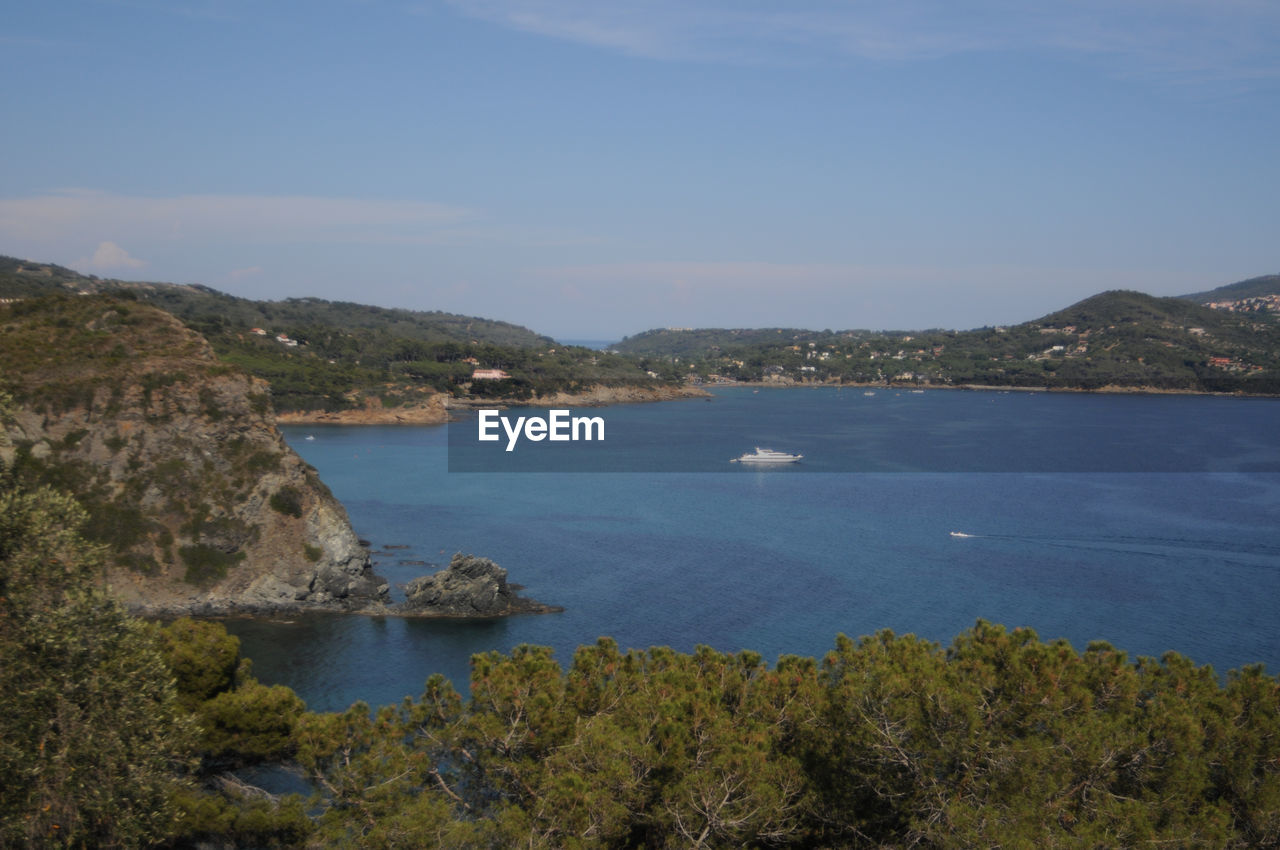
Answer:
[[[474,653],[526,643],[562,663],[602,635],[772,661],[838,632],[947,644],[979,617],[1280,668],[1280,401],[731,388],[590,412],[677,471],[451,472],[449,430],[457,448],[474,421],[284,429],[393,586],[468,552],[564,612],[229,621],[259,678],[333,710],[433,672],[465,690]],[[805,462],[727,462],[756,444]],[[851,457],[873,471],[814,474]]]

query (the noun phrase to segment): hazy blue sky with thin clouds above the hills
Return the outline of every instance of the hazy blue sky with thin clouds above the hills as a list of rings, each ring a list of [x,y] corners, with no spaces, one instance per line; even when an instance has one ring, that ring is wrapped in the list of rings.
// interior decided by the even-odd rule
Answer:
[[[59,0],[0,253],[559,339],[1280,271],[1277,0]]]

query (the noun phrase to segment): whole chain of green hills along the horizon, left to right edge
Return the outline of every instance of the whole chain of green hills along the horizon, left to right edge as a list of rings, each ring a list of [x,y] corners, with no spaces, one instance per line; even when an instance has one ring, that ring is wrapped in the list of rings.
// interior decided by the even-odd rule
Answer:
[[[660,398],[682,383],[726,380],[1280,394],[1280,275],[1175,298],[1105,292],[1001,328],[668,328],[604,352],[453,314],[319,298],[257,302],[0,259],[0,298],[51,291],[108,291],[165,309],[224,362],[266,379],[276,410],[302,417],[443,421],[449,398],[591,403],[584,399],[626,397],[616,388]],[[609,392],[600,396],[602,388]]]

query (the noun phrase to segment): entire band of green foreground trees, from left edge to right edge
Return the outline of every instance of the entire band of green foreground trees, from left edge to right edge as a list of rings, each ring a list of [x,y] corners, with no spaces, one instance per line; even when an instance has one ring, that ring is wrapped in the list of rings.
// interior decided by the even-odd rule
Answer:
[[[65,497],[3,498],[3,846],[1280,846],[1261,667],[1224,684],[983,621],[772,667],[600,639],[567,670],[477,655],[470,698],[434,676],[314,714],[219,623],[83,590]],[[228,772],[251,764],[301,771],[311,800]]]

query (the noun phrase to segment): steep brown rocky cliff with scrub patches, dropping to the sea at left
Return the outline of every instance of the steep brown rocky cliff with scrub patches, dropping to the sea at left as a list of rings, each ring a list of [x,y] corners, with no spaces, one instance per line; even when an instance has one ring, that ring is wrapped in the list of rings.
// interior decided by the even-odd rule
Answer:
[[[268,385],[128,300],[0,306],[0,461],[72,492],[105,581],[145,613],[378,608],[347,513],[282,439]]]

